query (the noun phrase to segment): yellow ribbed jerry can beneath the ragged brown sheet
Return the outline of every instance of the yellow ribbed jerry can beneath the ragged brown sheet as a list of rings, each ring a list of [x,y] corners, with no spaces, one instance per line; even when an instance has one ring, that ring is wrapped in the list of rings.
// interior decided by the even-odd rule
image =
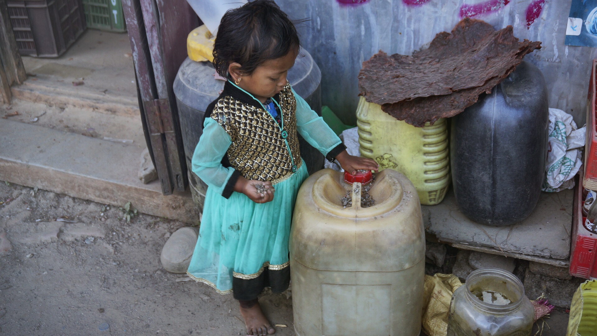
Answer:
[[[361,155],[373,158],[379,169],[401,172],[417,188],[421,204],[435,205],[450,185],[447,120],[414,127],[383,112],[361,97],[356,109]]]

